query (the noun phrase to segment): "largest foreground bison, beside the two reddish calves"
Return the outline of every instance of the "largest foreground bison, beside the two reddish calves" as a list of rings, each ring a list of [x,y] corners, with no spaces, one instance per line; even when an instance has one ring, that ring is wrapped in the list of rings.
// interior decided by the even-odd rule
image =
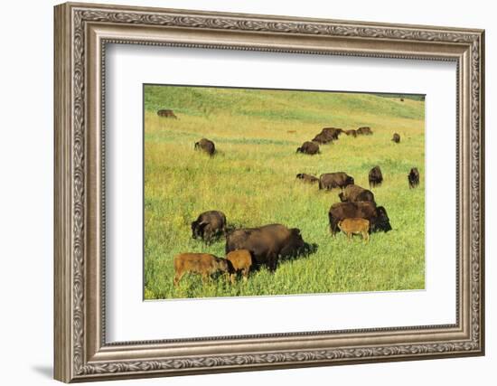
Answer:
[[[229,233],[226,237],[226,254],[237,249],[247,249],[252,255],[253,264],[265,264],[270,271],[275,271],[279,257],[298,255],[305,249],[305,242],[300,230],[271,224]]]

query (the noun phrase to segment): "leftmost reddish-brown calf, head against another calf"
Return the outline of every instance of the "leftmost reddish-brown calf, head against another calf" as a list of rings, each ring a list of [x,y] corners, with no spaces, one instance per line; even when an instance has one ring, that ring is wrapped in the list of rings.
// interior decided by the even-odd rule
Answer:
[[[177,286],[185,273],[198,273],[206,280],[216,272],[230,272],[226,259],[216,258],[209,253],[180,253],[174,257],[174,286]]]

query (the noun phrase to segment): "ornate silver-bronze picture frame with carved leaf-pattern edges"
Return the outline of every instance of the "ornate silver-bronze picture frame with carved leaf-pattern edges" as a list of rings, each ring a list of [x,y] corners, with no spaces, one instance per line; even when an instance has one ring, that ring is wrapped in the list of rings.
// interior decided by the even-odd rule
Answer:
[[[54,378],[101,381],[484,354],[484,32],[67,3],[54,9]],[[455,324],[106,341],[106,44],[454,61]]]

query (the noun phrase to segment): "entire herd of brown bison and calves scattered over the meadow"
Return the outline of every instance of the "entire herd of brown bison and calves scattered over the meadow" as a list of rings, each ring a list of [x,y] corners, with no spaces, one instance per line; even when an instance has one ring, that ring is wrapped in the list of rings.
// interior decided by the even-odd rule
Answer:
[[[159,117],[176,118],[173,110],[157,111]],[[315,155],[320,153],[319,145],[331,144],[340,135],[370,136],[373,134],[370,127],[359,127],[357,130],[342,130],[337,127],[324,127],[312,141],[306,141],[296,149],[297,153]],[[400,142],[398,133],[393,135],[392,141]],[[207,138],[202,138],[194,144],[195,150],[208,155],[214,155],[216,146]],[[349,240],[353,234],[361,234],[365,241],[370,240],[370,233],[376,231],[391,231],[389,216],[383,206],[377,205],[374,194],[355,184],[354,178],[344,172],[324,173],[318,177],[299,173],[296,178],[308,183],[317,184],[319,190],[330,191],[340,189],[340,202],[333,203],[328,211],[330,232],[334,236],[338,231],[347,235]],[[383,183],[383,174],[380,166],[374,166],[368,174],[370,188]],[[419,184],[419,172],[413,167],[408,174],[409,188]],[[202,279],[210,278],[216,273],[226,274],[230,282],[234,283],[238,274],[248,279],[249,272],[262,265],[270,272],[277,269],[278,259],[295,257],[308,252],[307,244],[300,230],[287,228],[283,224],[269,224],[257,228],[239,228],[228,230],[226,215],[220,211],[202,212],[195,221],[192,221],[192,239],[211,243],[224,237],[226,240],[226,257],[218,258],[208,253],[180,253],[173,259],[173,284],[177,286],[186,273],[196,273]]]

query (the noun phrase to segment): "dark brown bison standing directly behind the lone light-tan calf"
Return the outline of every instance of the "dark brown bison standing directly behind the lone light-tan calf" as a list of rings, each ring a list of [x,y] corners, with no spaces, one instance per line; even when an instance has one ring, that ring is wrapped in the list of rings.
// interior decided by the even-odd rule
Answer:
[[[343,219],[366,219],[370,221],[370,231],[391,231],[389,216],[382,206],[374,202],[337,202],[333,203],[328,212],[330,231],[339,231],[338,223]]]

